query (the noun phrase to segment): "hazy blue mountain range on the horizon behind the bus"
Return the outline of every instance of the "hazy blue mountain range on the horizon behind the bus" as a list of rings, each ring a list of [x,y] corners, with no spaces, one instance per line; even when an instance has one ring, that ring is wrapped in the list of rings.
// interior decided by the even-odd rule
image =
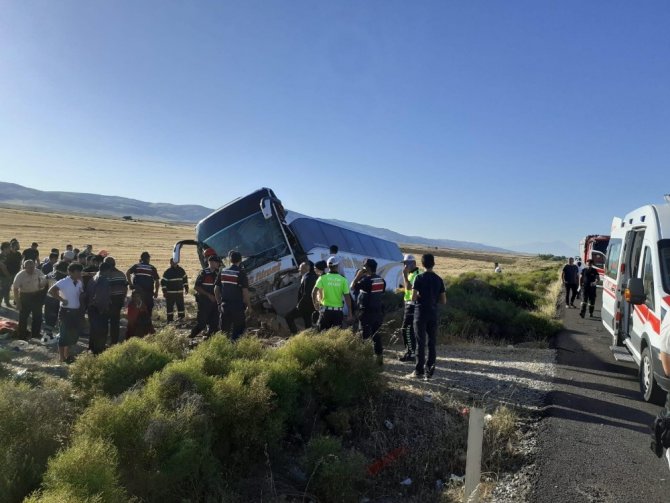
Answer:
[[[198,222],[214,211],[211,208],[195,204],[147,203],[126,197],[102,196],[99,194],[85,194],[79,192],[42,191],[6,182],[0,182],[0,204],[32,210],[84,213],[94,216],[132,216],[133,218],[144,220],[162,220],[184,223]],[[481,243],[406,236],[389,229],[372,227],[370,225],[345,222],[342,220],[321,220],[401,244],[510,253],[510,250]],[[524,251],[523,253],[528,252]]]

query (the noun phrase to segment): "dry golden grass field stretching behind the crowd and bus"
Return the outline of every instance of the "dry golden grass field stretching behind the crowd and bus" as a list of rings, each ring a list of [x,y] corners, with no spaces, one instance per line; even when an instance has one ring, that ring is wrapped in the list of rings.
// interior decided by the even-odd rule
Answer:
[[[36,241],[40,256],[51,248],[61,251],[71,243],[83,249],[90,243],[95,252],[107,250],[116,258],[118,268],[125,270],[139,259],[144,250],[151,253],[151,262],[162,273],[168,267],[174,243],[180,239],[192,239],[194,226],[163,222],[133,221],[120,218],[88,217],[76,214],[44,213],[0,208],[0,239],[17,238],[23,248]],[[493,263],[499,262],[506,272],[527,272],[545,261],[528,255],[493,254],[454,249],[427,249],[415,245],[401,246],[403,252],[418,257],[430,252],[436,256],[436,272],[441,276],[457,276],[464,272],[493,271]],[[194,249],[185,248],[182,266],[193,281],[200,265]]]

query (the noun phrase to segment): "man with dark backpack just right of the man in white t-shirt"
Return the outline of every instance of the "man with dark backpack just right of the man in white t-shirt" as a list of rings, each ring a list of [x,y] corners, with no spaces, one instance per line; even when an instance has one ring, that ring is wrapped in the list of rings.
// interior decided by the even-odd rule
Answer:
[[[107,344],[109,314],[112,303],[109,274],[112,265],[100,264],[100,270],[86,285],[86,306],[90,322],[89,348],[95,355],[102,353]]]

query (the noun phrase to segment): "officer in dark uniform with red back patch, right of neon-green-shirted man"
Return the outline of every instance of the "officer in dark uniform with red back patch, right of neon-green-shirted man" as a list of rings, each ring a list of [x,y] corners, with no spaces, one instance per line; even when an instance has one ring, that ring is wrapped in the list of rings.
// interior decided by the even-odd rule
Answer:
[[[383,351],[379,329],[384,321],[382,296],[386,290],[386,281],[377,275],[377,261],[365,259],[363,267],[358,270],[351,283],[351,289],[357,296],[360,312],[360,326],[363,339],[372,338],[377,363],[383,363]]]

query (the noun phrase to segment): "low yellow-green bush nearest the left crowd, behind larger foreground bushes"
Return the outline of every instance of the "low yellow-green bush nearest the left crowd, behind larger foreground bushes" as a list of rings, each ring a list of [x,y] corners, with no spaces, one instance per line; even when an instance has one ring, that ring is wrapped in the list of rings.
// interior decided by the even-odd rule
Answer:
[[[133,338],[98,356],[82,355],[70,366],[70,378],[85,397],[114,396],[162,369],[173,359],[173,355],[158,345]]]

